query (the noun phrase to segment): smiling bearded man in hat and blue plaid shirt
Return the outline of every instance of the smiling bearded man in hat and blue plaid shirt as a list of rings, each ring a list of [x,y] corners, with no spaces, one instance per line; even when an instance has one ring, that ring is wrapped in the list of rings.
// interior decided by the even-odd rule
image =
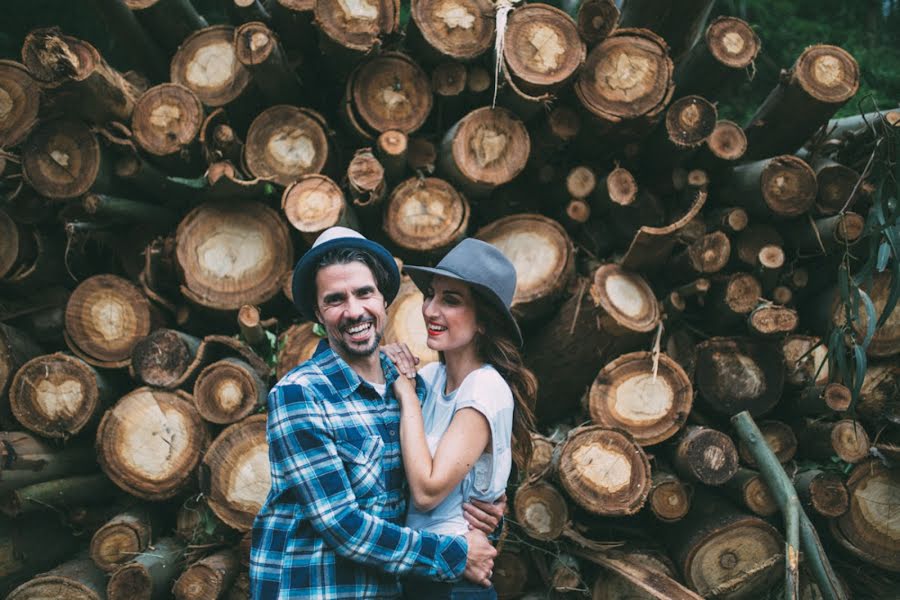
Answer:
[[[292,283],[294,303],[324,326],[328,344],[269,393],[272,488],[253,525],[252,598],[391,598],[399,575],[487,585],[496,550],[483,532],[401,526],[398,372],[378,351],[400,285],[393,257],[333,227]]]

